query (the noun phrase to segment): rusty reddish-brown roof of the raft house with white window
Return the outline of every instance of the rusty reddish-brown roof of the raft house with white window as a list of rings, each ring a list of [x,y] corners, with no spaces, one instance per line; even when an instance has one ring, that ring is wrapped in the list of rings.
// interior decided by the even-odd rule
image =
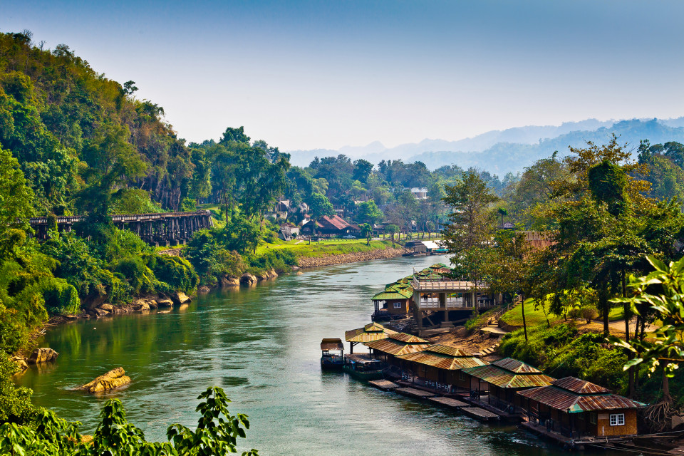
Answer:
[[[646,405],[613,394],[611,390],[602,386],[574,377],[560,378],[552,381],[551,385],[518,391],[517,394],[568,413],[642,408]]]

